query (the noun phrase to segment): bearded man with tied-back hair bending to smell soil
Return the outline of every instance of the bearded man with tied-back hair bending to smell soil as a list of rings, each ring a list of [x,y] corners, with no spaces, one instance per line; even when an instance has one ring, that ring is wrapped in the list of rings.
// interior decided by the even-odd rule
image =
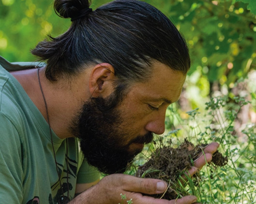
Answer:
[[[137,0],[95,11],[86,0],[55,0],[54,8],[72,24],[32,50],[46,64],[0,58],[1,203],[115,204],[121,193],[134,204],[196,202],[145,196],[167,184],[121,174],[153,133],[163,134],[165,111],[180,96],[190,66],[180,33]],[[98,182],[92,166],[110,175]]]

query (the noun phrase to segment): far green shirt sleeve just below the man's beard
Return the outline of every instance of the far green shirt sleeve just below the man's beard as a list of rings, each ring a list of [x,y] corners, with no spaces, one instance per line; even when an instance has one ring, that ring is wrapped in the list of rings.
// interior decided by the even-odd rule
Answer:
[[[80,152],[82,155],[82,152]],[[89,165],[86,159],[81,156],[82,164],[77,174],[77,184],[86,184],[95,182],[100,178],[100,172],[93,166]]]

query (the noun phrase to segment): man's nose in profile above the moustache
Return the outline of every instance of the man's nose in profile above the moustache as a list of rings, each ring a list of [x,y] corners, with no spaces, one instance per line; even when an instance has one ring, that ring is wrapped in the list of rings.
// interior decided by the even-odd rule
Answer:
[[[157,135],[163,134],[165,132],[165,111],[152,117],[152,120],[147,123],[145,129]]]

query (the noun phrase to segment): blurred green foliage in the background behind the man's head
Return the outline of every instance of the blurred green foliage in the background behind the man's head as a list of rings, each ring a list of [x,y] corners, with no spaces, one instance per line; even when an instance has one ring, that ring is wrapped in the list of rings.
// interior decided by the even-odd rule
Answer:
[[[187,40],[197,85],[230,88],[256,67],[255,0],[145,0],[167,15]],[[110,0],[94,0],[96,9]],[[0,55],[9,61],[35,60],[30,49],[46,35],[70,26],[54,13],[52,0],[0,0]],[[209,91],[203,94],[207,95]]]

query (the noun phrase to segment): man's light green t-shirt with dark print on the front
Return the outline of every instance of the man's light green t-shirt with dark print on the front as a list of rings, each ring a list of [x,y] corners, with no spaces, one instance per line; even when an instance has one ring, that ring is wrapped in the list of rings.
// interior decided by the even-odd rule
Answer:
[[[61,200],[67,200],[68,186],[71,200],[77,183],[90,183],[99,178],[98,171],[83,159],[77,138],[63,140],[52,131],[60,188],[48,123],[8,72],[35,65],[40,66],[31,62],[11,64],[0,57],[1,204],[62,203]]]

